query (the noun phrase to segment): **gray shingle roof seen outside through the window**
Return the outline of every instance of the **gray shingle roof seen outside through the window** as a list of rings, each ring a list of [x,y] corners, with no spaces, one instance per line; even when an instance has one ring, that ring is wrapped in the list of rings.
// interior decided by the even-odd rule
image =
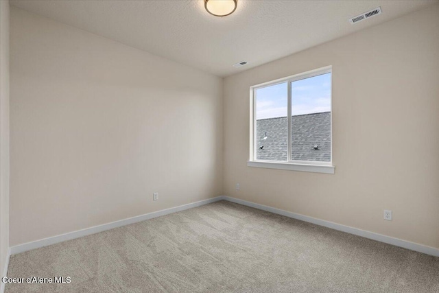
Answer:
[[[287,161],[287,117],[256,123],[257,159]],[[265,132],[267,138],[263,139]],[[318,150],[314,150],[315,145]],[[331,112],[292,116],[292,160],[331,161]]]

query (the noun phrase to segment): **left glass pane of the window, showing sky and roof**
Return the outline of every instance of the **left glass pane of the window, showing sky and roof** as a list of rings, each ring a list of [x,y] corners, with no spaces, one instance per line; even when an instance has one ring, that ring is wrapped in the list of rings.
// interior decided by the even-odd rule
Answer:
[[[287,161],[288,83],[256,90],[256,159]]]

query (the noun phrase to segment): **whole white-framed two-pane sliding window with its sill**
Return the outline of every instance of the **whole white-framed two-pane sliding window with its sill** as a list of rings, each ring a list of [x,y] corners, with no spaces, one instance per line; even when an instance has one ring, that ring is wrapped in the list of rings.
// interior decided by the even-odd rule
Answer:
[[[324,67],[250,88],[250,167],[334,173],[331,75]]]

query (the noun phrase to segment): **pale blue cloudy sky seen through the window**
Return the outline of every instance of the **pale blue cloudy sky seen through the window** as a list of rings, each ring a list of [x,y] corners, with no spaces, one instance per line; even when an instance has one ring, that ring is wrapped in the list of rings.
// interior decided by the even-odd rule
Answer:
[[[287,116],[287,82],[257,89],[256,119]],[[292,115],[331,110],[331,73],[292,82]]]

